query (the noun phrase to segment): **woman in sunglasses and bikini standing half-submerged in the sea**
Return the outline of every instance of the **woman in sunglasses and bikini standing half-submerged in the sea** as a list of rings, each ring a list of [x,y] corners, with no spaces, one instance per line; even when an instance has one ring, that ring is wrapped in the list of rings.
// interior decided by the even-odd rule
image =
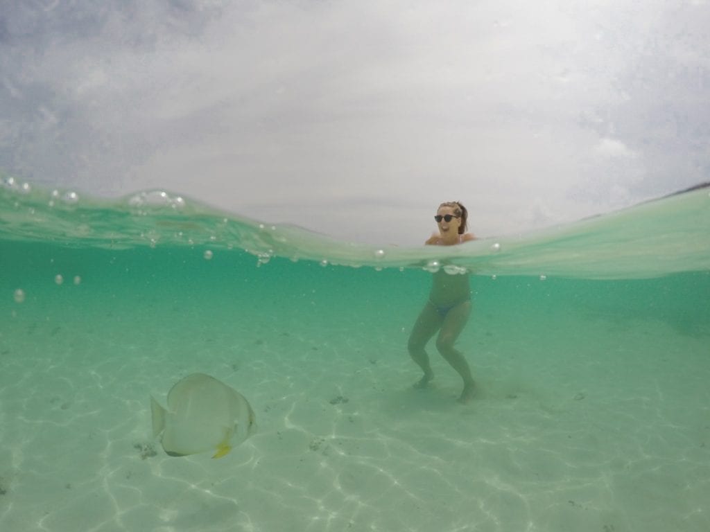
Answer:
[[[476,237],[466,233],[468,211],[458,201],[448,201],[439,205],[436,220],[439,233],[434,233],[427,245],[457,245]],[[469,275],[449,275],[443,270],[435,272],[429,300],[419,314],[409,336],[408,349],[412,360],[422,368],[424,376],[415,384],[424,388],[434,378],[425,350],[427,342],[439,331],[437,350],[464,379],[464,389],[459,402],[466,403],[474,396],[474,379],[464,355],[454,348],[454,342],[464,330],[471,314],[471,287]]]

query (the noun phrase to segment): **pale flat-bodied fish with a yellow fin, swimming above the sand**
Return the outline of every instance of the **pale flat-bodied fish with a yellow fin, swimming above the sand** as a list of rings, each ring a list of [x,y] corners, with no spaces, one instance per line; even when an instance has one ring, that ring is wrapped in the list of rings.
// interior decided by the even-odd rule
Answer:
[[[214,450],[222,458],[256,432],[256,416],[243,395],[204,373],[192,373],[168,392],[168,409],[151,397],[153,437],[170,456]]]

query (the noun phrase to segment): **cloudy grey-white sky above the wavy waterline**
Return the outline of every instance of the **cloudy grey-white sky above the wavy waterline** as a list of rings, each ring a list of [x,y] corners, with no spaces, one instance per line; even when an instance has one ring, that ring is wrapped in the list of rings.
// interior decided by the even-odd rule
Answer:
[[[416,245],[707,181],[707,0],[3,0],[0,169]]]

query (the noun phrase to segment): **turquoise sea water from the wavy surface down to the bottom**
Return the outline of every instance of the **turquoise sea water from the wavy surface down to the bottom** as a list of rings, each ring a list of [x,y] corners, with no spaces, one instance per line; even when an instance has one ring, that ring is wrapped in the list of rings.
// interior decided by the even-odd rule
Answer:
[[[2,531],[706,531],[710,196],[456,248],[345,243],[176,194],[0,187]],[[410,328],[471,272],[459,348]],[[171,458],[191,372],[258,433]]]

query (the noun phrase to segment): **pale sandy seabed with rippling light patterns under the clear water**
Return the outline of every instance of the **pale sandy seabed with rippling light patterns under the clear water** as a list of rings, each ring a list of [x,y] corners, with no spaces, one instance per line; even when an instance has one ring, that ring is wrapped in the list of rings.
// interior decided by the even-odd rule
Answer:
[[[411,387],[418,309],[373,326],[149,299],[0,307],[1,531],[710,530],[707,336],[474,311],[461,406],[435,353]],[[191,372],[256,411],[225,458],[151,438],[149,396]]]

